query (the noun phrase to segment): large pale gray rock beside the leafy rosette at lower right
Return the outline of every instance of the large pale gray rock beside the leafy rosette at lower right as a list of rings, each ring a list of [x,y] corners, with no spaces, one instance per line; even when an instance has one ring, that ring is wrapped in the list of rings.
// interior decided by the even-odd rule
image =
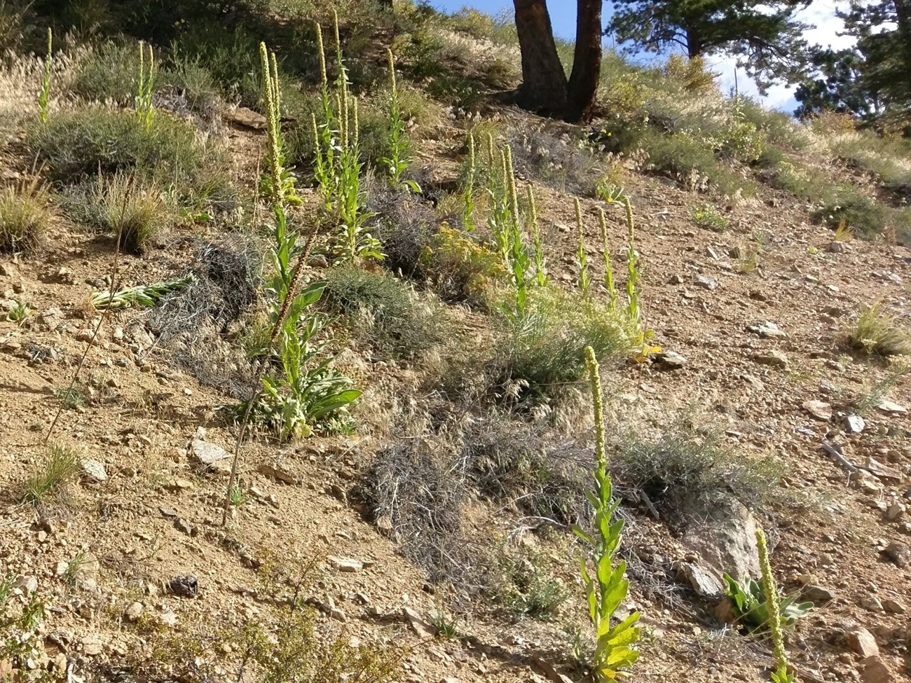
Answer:
[[[756,550],[756,520],[740,503],[732,502],[713,519],[691,526],[682,543],[701,556],[721,579],[727,572],[738,581],[760,576]]]

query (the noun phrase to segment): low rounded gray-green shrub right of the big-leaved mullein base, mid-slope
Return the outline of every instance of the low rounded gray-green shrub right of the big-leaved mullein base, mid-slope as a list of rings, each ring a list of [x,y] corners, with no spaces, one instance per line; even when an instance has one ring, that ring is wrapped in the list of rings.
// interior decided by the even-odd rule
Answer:
[[[326,273],[324,296],[358,339],[393,358],[414,359],[451,333],[442,306],[384,272],[333,268]]]

